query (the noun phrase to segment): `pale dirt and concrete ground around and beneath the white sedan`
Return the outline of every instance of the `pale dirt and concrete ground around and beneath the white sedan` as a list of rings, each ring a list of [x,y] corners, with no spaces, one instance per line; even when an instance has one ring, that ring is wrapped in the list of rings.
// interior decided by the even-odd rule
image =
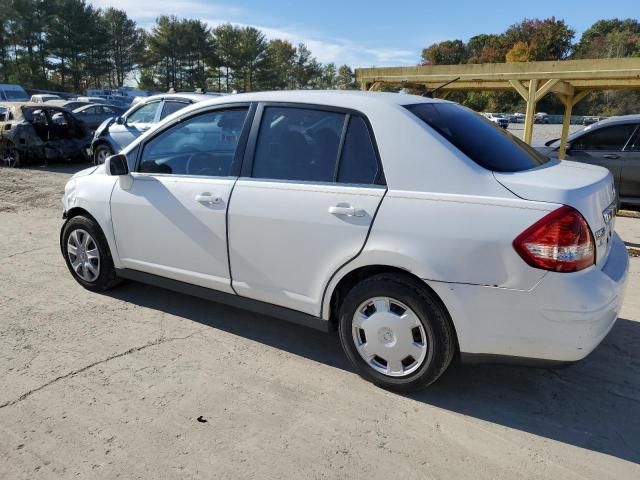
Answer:
[[[0,478],[640,478],[640,258],[587,360],[456,366],[397,395],[335,335],[82,289],[58,245],[75,169],[0,168]]]

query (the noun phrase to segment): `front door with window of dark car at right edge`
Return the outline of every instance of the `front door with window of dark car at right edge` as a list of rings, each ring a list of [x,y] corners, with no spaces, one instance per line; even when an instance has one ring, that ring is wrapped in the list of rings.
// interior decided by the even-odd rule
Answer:
[[[567,151],[567,160],[600,165],[613,174],[616,189],[620,192],[620,178],[624,146],[635,130],[633,124],[619,124],[587,130],[575,138]]]

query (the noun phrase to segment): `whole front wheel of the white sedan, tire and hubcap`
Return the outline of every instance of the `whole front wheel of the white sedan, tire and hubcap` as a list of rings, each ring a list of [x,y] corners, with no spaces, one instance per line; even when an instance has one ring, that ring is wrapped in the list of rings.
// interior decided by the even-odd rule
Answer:
[[[92,291],[108,290],[121,282],[116,276],[109,245],[98,224],[73,217],[62,228],[62,255],[73,278]]]

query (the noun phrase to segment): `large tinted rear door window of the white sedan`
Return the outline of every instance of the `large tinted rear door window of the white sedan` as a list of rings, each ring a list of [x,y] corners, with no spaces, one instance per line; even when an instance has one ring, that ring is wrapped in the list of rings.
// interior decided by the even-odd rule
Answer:
[[[305,108],[266,107],[252,176],[333,182],[345,116]]]

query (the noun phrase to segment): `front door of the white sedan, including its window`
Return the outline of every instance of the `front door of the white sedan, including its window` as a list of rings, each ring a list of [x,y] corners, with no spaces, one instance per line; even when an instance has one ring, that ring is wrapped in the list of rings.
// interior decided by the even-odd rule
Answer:
[[[197,113],[135,149],[133,180],[118,182],[111,196],[126,268],[232,292],[226,213],[248,112],[236,105]]]

